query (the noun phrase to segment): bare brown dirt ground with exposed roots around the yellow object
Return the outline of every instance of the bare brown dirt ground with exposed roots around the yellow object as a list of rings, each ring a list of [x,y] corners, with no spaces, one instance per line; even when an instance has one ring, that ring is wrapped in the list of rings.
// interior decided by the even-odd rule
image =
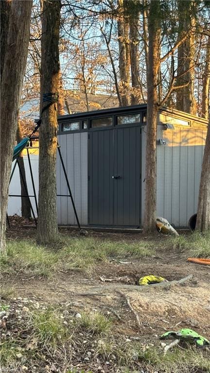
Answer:
[[[69,234],[68,230],[62,232]],[[154,237],[145,238],[142,234],[91,234],[102,240],[154,241]],[[9,239],[33,238],[35,229],[13,228],[7,232],[7,236]],[[166,248],[158,249],[152,258],[144,260],[134,261],[131,258],[131,262],[127,259],[126,263],[110,260],[98,265],[88,275],[77,271],[57,272],[48,280],[18,273],[15,277],[3,276],[3,281],[14,287],[18,297],[35,297],[40,302],[53,305],[74,304],[75,312],[83,309],[106,310],[116,318],[116,330],[127,338],[138,337],[142,343],[157,342],[159,335],[165,331],[186,327],[210,338],[210,268],[188,263],[186,259],[185,252]],[[169,281],[192,274],[192,279],[168,289],[148,286],[144,291],[136,291],[122,287],[123,294],[116,291],[114,284],[137,284],[141,276],[149,274],[162,276]],[[80,295],[91,293],[94,287],[99,286],[110,288],[102,288],[103,295]],[[141,327],[123,295],[129,297],[133,310],[138,313]]]

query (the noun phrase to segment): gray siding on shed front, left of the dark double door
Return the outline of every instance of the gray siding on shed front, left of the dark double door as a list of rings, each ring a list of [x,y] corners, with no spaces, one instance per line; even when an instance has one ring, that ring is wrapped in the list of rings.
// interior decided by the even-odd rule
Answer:
[[[88,132],[58,136],[61,153],[81,224],[88,224]],[[57,194],[69,195],[59,155],[56,165]],[[70,197],[57,197],[58,224],[74,225],[76,219]]]

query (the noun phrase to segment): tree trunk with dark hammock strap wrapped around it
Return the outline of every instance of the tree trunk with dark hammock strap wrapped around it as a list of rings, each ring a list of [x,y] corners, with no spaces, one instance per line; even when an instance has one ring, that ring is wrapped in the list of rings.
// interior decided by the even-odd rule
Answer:
[[[41,38],[41,92],[53,94],[59,88],[60,0],[44,0]],[[41,97],[42,102],[42,97]],[[46,104],[42,104],[44,107]],[[57,104],[42,114],[39,130],[39,199],[37,242],[50,244],[58,239],[56,213]]]

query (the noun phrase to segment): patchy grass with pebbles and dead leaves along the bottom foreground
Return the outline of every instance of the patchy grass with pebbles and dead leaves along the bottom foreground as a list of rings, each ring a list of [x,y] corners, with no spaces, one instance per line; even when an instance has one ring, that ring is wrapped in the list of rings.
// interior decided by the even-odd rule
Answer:
[[[21,372],[21,367],[26,366],[32,373],[44,373],[45,366],[53,362],[59,372],[95,373],[97,361],[102,365],[108,361],[110,373],[134,373],[140,369],[158,373],[210,372],[207,352],[175,347],[164,355],[158,341],[154,346],[125,341],[123,335],[116,333],[114,322],[99,312],[84,311],[81,318],[76,318],[69,311],[64,323],[62,308],[49,307],[30,310],[18,320],[16,307],[11,305],[14,311],[8,318],[9,334],[1,340],[0,357],[1,367],[11,372]],[[86,368],[74,368],[81,361]]]

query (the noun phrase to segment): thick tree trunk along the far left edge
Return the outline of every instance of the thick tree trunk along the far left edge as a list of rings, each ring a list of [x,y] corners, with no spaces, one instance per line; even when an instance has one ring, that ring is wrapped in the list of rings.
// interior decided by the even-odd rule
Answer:
[[[1,10],[0,251],[5,229],[9,179],[18,127],[18,109],[28,53],[32,1],[3,0]]]

